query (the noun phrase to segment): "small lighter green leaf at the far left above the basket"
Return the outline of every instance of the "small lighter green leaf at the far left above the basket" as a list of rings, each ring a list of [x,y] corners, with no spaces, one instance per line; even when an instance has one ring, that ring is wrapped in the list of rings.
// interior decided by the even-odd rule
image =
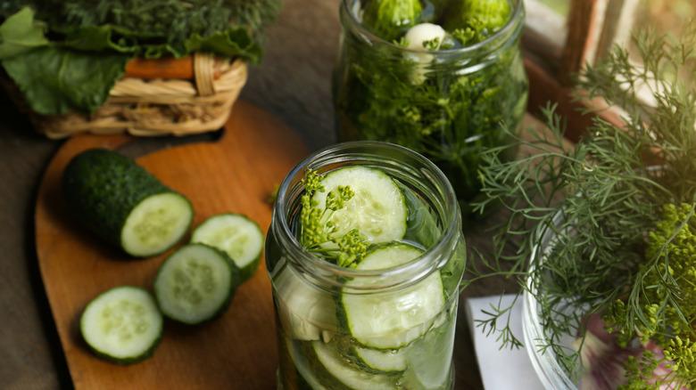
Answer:
[[[0,25],[0,59],[48,45],[44,27],[34,20],[29,7],[13,14]]]

